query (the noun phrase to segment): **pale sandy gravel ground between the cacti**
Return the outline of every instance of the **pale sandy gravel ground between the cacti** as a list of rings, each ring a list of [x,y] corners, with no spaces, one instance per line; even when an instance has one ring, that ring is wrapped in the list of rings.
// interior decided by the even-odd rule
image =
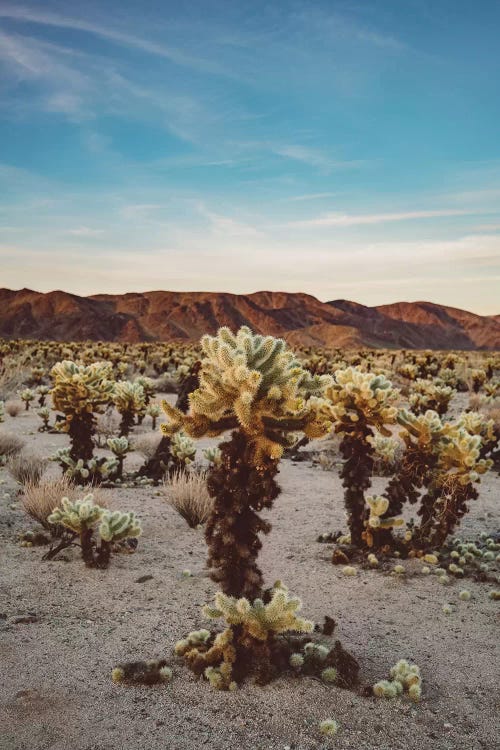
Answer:
[[[0,426],[51,455],[64,435],[36,432],[23,413]],[[127,459],[128,460],[128,459]],[[133,461],[138,457],[133,457]],[[51,471],[58,469],[53,465]],[[273,524],[260,558],[266,580],[281,578],[301,596],[303,613],[338,621],[337,637],[355,654],[361,678],[387,677],[400,658],[416,661],[423,700],[365,698],[312,678],[285,676],[266,687],[216,692],[171,657],[176,640],[206,626],[201,605],[216,590],[204,572],[203,533],[188,528],[153,488],[112,490],[112,506],[133,509],[144,533],[135,555],[117,555],[106,571],[88,570],[77,551],[42,562],[43,548],[22,548],[30,526],[17,489],[0,470],[0,750],[492,750],[498,742],[499,603],[492,585],[381,571],[346,578],[329,562],[319,533],[345,528],[337,471],[283,461],[283,488],[268,514]],[[383,479],[375,488],[381,489]],[[498,476],[487,477],[460,535],[498,527]],[[2,497],[3,496],[3,497]],[[190,569],[191,578],[182,571]],[[152,576],[139,583],[142,576]],[[464,585],[472,599],[458,599]],[[453,603],[445,615],[444,603]],[[34,613],[35,621],[15,623]],[[111,682],[120,661],[165,657],[165,686]],[[318,723],[333,717],[336,737]]]

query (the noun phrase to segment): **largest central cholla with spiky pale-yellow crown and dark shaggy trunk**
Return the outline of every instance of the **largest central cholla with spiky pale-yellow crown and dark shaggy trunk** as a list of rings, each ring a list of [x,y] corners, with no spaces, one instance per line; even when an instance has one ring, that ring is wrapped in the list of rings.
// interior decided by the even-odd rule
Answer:
[[[234,430],[208,479],[214,498],[205,530],[208,565],[225,594],[255,599],[262,590],[258,535],[270,530],[257,513],[280,492],[274,477],[287,435],[303,430],[316,437],[327,429],[319,416],[322,401],[313,397],[330,379],[311,376],[281,339],[255,336],[246,327],[236,335],[221,328],[201,346],[200,386],[190,395],[190,413],[164,401],[170,421],[161,428],[166,435],[183,428],[195,438]]]

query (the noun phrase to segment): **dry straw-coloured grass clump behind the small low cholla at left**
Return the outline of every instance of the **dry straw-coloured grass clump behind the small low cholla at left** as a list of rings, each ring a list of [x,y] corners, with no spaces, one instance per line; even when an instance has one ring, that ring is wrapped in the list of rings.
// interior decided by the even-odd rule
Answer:
[[[44,479],[38,483],[27,482],[24,485],[21,505],[34,521],[53,533],[57,527],[49,524],[47,518],[61,504],[61,499],[69,497],[70,500],[74,501],[88,494],[93,495],[96,505],[103,508],[107,507],[109,492],[90,485],[88,487],[77,487],[65,476],[57,479]]]

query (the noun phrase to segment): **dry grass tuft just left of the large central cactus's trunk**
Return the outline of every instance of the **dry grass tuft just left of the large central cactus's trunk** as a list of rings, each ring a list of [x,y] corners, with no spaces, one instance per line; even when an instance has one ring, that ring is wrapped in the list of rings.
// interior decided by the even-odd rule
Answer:
[[[212,509],[207,489],[207,472],[179,470],[163,483],[167,502],[175,508],[192,529],[205,523]]]

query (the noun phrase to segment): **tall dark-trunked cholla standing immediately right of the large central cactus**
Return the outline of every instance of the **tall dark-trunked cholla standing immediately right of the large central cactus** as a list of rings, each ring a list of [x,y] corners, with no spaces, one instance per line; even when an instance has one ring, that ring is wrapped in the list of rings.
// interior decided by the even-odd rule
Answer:
[[[394,402],[399,391],[384,375],[361,372],[355,367],[337,370],[334,378],[325,396],[330,403],[335,432],[342,435],[340,452],[345,461],[341,477],[351,542],[361,547],[366,517],[364,493],[370,487],[373,468],[371,439],[374,430],[390,437],[386,425],[396,421]]]

